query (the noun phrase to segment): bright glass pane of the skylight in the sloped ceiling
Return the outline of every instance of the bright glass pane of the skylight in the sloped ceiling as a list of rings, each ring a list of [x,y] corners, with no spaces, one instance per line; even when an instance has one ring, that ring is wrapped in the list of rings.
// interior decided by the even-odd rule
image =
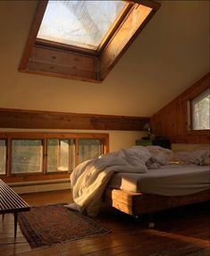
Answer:
[[[46,6],[38,38],[96,50],[124,1],[55,1]]]

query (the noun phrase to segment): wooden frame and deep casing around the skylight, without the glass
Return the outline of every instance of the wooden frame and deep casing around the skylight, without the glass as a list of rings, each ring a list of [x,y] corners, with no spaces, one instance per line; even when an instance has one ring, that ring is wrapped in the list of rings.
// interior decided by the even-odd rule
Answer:
[[[94,51],[37,38],[48,3],[48,0],[39,1],[19,71],[80,81],[104,81],[160,7],[160,4],[150,0],[126,2],[128,4],[123,8],[122,16]]]

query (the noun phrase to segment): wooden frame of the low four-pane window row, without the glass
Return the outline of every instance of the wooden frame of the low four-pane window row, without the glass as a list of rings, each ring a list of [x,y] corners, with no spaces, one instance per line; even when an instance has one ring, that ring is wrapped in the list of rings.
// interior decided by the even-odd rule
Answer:
[[[69,178],[71,171],[46,171],[47,160],[47,139],[66,139],[75,140],[75,165],[78,164],[77,150],[79,139],[98,139],[103,142],[103,153],[109,152],[109,134],[108,133],[75,133],[75,132],[0,132],[0,140],[5,140],[6,144],[6,163],[5,174],[0,178],[6,183],[31,182]],[[12,141],[13,140],[41,140],[43,142],[43,161],[42,173],[21,173],[12,174]]]

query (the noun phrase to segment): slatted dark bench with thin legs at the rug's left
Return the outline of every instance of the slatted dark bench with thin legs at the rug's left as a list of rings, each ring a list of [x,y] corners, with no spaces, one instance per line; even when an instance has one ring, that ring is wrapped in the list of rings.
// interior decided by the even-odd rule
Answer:
[[[13,213],[14,215],[14,237],[17,235],[18,213],[29,210],[29,204],[13,191],[6,183],[0,180],[0,214]]]

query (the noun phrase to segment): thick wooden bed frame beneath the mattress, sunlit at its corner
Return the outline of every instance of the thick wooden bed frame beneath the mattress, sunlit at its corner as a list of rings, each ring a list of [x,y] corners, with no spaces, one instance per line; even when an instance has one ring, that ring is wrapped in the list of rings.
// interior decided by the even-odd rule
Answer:
[[[210,201],[210,190],[184,196],[162,196],[126,192],[112,188],[105,190],[106,204],[135,217],[145,213],[153,213],[158,210],[172,209],[203,201]]]

